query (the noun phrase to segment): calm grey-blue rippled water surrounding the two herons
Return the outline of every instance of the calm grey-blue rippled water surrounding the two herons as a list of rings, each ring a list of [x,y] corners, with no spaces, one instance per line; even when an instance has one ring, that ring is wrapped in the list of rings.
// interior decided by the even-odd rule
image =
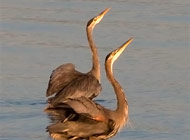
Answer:
[[[115,107],[104,71],[108,52],[135,38],[114,65],[130,105],[130,126],[113,140],[190,139],[188,0],[1,0],[0,139],[47,140],[51,71],[72,62],[87,72],[86,22],[107,7],[94,39],[101,59],[99,103]],[[101,99],[101,100],[100,100]]]

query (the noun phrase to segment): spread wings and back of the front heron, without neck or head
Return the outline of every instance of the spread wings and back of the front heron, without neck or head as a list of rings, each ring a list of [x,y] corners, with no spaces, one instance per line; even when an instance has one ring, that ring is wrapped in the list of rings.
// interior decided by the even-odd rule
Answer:
[[[114,121],[107,118],[103,107],[88,98],[65,100],[56,106],[55,110],[57,109],[72,109],[73,112],[65,120],[60,119],[47,127],[53,138],[107,139],[114,130]],[[63,114],[60,111],[57,113],[61,116]]]

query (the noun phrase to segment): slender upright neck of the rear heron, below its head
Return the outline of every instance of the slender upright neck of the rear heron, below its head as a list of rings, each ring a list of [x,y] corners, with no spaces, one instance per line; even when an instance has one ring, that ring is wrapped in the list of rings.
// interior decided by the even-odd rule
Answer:
[[[92,28],[86,27],[87,39],[92,52],[92,69],[90,72],[96,77],[96,79],[100,82],[100,63],[98,58],[98,51],[96,45],[92,39]]]

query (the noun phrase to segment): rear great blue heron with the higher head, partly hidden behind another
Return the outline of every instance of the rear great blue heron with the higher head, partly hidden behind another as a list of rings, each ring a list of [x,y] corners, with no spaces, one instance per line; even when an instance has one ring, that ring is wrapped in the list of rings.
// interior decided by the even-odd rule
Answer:
[[[51,105],[67,98],[85,96],[92,99],[100,93],[102,89],[100,85],[100,64],[92,31],[109,10],[110,8],[107,8],[89,20],[86,26],[87,39],[92,52],[92,69],[88,73],[81,73],[75,70],[73,64],[67,63],[53,70],[46,92],[47,97],[56,93],[54,97],[49,98]]]

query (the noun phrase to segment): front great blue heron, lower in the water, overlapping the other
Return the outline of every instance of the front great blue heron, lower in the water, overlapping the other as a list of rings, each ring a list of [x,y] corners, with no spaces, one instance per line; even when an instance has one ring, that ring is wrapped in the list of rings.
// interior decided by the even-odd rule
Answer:
[[[128,121],[128,102],[119,82],[114,78],[112,66],[115,60],[133,41],[129,39],[122,46],[109,53],[105,59],[107,78],[117,97],[117,108],[110,110],[94,101],[80,97],[68,99],[54,108],[59,121],[47,127],[51,137],[58,140],[106,140],[114,136]],[[51,109],[50,109],[51,110]],[[64,113],[63,113],[64,112]]]

